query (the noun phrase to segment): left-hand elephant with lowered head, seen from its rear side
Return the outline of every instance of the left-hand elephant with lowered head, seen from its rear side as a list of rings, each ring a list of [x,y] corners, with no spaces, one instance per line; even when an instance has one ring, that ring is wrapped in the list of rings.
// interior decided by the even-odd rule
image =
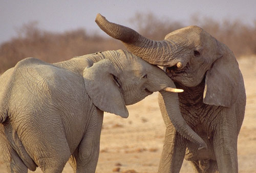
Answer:
[[[103,111],[128,117],[125,105],[160,91],[178,106],[173,81],[122,50],[54,64],[19,61],[0,77],[0,153],[8,172],[95,172]],[[181,117],[180,110],[173,115]]]

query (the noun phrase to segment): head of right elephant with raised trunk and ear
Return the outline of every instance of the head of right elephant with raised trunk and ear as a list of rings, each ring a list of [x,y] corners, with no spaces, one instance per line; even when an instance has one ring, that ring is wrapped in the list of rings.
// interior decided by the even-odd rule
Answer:
[[[238,95],[240,72],[232,51],[197,26],[167,34],[162,41],[143,37],[136,31],[110,23],[100,14],[98,26],[119,39],[133,54],[145,61],[165,67],[167,75],[185,87],[205,81],[205,104],[231,106]]]

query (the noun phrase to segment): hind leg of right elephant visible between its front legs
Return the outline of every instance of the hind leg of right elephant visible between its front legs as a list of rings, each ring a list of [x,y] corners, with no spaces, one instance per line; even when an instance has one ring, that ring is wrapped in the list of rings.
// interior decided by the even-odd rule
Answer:
[[[203,159],[203,160],[191,161],[190,163],[192,164],[194,170],[198,173],[219,172],[216,160]]]

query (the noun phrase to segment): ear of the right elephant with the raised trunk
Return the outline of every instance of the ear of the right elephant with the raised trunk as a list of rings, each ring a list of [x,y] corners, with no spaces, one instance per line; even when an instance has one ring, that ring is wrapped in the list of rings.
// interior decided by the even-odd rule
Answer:
[[[217,106],[231,106],[237,100],[240,71],[233,53],[221,45],[220,54],[206,72],[203,102]]]

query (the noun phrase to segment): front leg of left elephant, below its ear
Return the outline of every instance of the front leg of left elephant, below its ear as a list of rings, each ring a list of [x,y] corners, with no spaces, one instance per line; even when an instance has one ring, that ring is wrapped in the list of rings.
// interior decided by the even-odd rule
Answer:
[[[103,112],[93,111],[86,133],[79,144],[77,152],[73,155],[76,162],[76,172],[95,172],[98,157],[100,133],[103,121]]]

